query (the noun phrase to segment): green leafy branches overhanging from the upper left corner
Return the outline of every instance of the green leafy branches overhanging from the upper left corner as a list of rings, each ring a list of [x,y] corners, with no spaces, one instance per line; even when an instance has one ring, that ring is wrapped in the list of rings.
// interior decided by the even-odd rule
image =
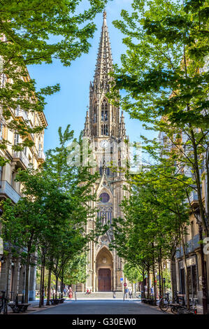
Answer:
[[[16,151],[32,146],[29,134],[43,127],[31,128],[29,122],[14,118],[16,109],[43,111],[45,96],[59,90],[59,85],[36,90],[36,82],[29,78],[27,66],[51,64],[59,59],[64,66],[87,53],[96,25],[94,18],[101,13],[108,0],[5,0],[1,3],[0,19],[0,106],[3,125],[22,137]],[[80,5],[85,5],[82,10]],[[0,148],[6,148],[7,140]],[[2,157],[1,165],[5,164]]]

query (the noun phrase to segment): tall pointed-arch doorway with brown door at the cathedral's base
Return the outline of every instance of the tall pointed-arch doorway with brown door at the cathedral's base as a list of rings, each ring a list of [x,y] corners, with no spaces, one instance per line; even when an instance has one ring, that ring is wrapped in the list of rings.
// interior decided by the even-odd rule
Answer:
[[[113,290],[113,256],[103,246],[96,256],[97,291]]]

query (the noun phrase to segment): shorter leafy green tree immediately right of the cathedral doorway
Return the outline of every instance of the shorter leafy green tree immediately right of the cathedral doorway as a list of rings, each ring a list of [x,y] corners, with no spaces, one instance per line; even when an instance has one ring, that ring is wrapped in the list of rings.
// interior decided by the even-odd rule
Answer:
[[[155,300],[155,269],[158,265],[162,295],[164,285],[161,262],[170,259],[173,264],[176,248],[180,241],[184,243],[185,227],[189,222],[188,207],[185,204],[187,194],[183,183],[173,183],[172,179],[162,176],[159,179],[161,170],[161,167],[152,166],[144,168],[138,175],[131,175],[130,197],[122,202],[124,218],[115,219],[113,225],[113,247],[134,267],[139,267],[143,279],[147,273],[148,291],[152,272]],[[171,175],[170,168],[168,171]],[[188,283],[187,273],[186,281]]]

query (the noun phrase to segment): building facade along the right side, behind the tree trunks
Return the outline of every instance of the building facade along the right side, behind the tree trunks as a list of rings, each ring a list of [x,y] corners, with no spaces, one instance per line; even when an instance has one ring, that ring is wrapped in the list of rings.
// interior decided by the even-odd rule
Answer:
[[[185,133],[181,132],[181,142],[184,146],[187,142],[188,137]],[[162,146],[165,146],[166,134],[164,132],[159,133],[159,141]],[[170,143],[170,147],[172,143]],[[168,144],[166,144],[168,147]],[[166,157],[167,155],[164,155]],[[179,169],[179,167],[178,167]],[[181,168],[185,176],[193,177],[192,170],[187,167]],[[205,169],[202,169],[202,173]],[[202,202],[204,207],[207,206],[207,178],[203,179],[201,186]],[[189,213],[189,225],[187,225],[186,234],[184,237],[185,242],[185,255],[187,264],[187,276],[189,281],[189,297],[197,298],[199,303],[202,302],[203,298],[203,279],[202,274],[204,271],[206,277],[206,289],[208,290],[209,297],[209,254],[203,253],[203,269],[201,261],[201,238],[200,228],[197,223],[196,217],[199,218],[199,199],[196,190],[193,190],[189,195],[190,207],[192,208]],[[196,214],[196,216],[194,216]],[[201,221],[201,218],[199,218]],[[185,279],[185,262],[183,258],[183,247],[180,244],[175,253],[175,267],[173,267],[173,279],[175,290],[185,294],[186,293],[186,279]],[[209,300],[209,299],[208,299]]]

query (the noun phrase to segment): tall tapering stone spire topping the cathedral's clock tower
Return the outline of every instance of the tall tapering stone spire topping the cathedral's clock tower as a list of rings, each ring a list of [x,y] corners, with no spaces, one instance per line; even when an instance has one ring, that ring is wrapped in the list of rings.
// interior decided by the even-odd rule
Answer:
[[[94,74],[94,85],[101,89],[108,89],[110,77],[108,73],[113,70],[113,58],[110,48],[110,38],[106,22],[106,11],[103,11],[103,26],[101,29],[101,38],[99,51],[96,60],[96,69]]]

